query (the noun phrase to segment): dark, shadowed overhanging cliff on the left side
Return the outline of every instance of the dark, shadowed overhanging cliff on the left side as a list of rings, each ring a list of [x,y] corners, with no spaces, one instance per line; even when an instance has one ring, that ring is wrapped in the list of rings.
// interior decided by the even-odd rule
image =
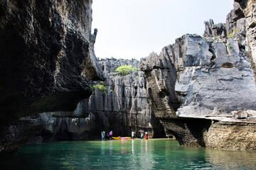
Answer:
[[[0,152],[15,152],[33,133],[25,131],[38,132],[23,125],[23,117],[73,111],[92,94],[89,81],[103,79],[93,49],[91,4],[0,2]]]

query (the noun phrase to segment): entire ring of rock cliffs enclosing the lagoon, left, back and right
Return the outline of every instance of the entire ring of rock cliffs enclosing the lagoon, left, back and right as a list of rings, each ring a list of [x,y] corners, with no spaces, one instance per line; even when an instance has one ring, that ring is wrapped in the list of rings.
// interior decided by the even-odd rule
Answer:
[[[161,125],[181,145],[256,149],[255,0],[235,0],[226,23],[206,22],[203,38],[183,35],[125,77],[114,70],[136,60],[96,61],[91,4],[0,2],[0,153],[42,129],[46,140],[85,140],[158,137]],[[106,89],[90,96],[97,84]]]

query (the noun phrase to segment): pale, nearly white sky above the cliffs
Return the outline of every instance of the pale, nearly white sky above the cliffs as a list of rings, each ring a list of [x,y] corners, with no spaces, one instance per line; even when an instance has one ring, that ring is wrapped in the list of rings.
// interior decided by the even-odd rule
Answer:
[[[203,35],[204,21],[225,23],[233,0],[93,0],[97,57],[142,58],[186,33]]]

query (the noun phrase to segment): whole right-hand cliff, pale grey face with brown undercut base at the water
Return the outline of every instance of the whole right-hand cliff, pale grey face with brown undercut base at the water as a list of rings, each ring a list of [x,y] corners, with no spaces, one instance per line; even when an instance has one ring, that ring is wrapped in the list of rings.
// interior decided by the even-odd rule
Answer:
[[[205,38],[183,35],[142,59],[149,103],[181,145],[256,149],[255,40],[243,15],[231,11],[226,24],[210,20]]]

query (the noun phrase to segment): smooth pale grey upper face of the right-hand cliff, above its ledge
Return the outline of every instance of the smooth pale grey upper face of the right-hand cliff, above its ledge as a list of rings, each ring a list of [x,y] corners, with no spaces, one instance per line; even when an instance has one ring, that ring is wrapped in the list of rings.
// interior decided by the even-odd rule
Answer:
[[[193,46],[187,48],[187,55],[201,58],[202,62],[185,67],[176,81],[175,89],[181,91],[185,86],[187,93],[178,94],[178,98],[183,101],[177,111],[178,116],[201,118],[206,115],[229,115],[232,111],[256,110],[256,86],[250,58],[240,55],[238,42],[229,39],[227,46],[213,42],[211,45],[216,58],[210,60],[208,42],[201,40],[187,38],[187,45]],[[205,43],[206,49],[200,48],[199,43]],[[200,50],[195,50],[196,45],[196,49]]]

